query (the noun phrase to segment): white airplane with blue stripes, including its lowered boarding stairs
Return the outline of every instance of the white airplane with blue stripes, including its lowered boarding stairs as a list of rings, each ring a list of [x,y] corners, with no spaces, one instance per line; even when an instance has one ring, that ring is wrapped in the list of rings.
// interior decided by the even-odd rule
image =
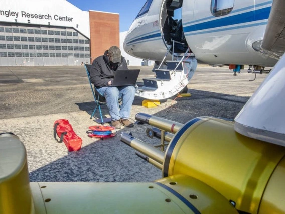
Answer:
[[[144,79],[136,95],[160,100],[187,92],[197,63],[226,65],[234,75],[244,65],[249,65],[248,72],[255,76],[270,71],[265,67],[273,67],[283,53],[276,46],[284,45],[282,36],[275,38],[281,33],[278,27],[282,23],[276,28],[272,24],[282,12],[274,11],[268,21],[272,2],[146,1],[123,44],[129,55],[156,62],[156,78]],[[281,1],[274,2],[283,6]]]

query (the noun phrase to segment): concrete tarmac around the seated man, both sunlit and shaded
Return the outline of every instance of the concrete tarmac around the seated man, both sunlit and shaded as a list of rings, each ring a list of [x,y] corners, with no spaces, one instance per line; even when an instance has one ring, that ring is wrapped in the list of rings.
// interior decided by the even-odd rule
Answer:
[[[141,69],[138,82],[154,77],[152,67]],[[190,97],[161,100],[156,108],[141,105],[135,97],[131,120],[139,112],[180,123],[199,117],[234,119],[267,74],[237,76],[225,68],[199,66],[188,84]],[[119,140],[121,132],[129,133],[152,145],[145,133],[150,125],[135,124],[122,128],[118,135],[105,140],[89,138],[88,127],[97,125],[90,115],[94,99],[84,66],[0,67],[0,132],[13,132],[27,150],[32,182],[149,182],[162,172],[135,155],[135,150]],[[108,109],[102,106],[103,114]],[[98,117],[98,112],[95,113]],[[67,119],[83,140],[77,152],[68,152],[64,143],[53,137],[53,124]]]

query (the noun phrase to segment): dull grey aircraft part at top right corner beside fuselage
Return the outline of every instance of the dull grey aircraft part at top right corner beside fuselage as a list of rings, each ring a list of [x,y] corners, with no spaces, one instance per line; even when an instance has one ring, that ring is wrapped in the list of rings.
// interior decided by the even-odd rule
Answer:
[[[282,56],[285,52],[285,1],[274,0],[261,47]]]

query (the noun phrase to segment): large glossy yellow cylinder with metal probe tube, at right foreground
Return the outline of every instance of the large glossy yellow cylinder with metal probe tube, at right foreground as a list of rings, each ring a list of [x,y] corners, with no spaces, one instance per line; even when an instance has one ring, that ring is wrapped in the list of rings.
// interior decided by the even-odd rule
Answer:
[[[239,211],[285,213],[285,147],[240,135],[233,121],[219,118],[199,117],[183,126],[144,113],[136,119],[175,133],[162,160],[164,177],[196,178]],[[138,140],[132,136],[128,144],[132,141]]]

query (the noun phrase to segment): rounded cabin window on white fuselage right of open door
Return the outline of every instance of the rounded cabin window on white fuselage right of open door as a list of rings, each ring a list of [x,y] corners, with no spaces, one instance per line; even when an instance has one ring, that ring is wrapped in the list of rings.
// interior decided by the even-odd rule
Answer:
[[[211,12],[215,17],[229,14],[234,5],[234,0],[211,0]]]

